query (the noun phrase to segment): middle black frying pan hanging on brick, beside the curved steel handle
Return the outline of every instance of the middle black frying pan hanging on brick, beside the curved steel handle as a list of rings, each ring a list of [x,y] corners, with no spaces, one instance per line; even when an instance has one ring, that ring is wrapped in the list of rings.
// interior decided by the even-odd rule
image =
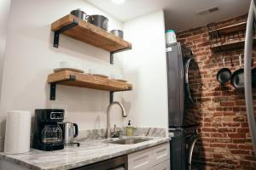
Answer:
[[[239,55],[239,65],[240,69],[236,70],[230,79],[231,84],[234,88],[244,88],[244,74],[243,74],[243,68],[241,65],[241,54]]]

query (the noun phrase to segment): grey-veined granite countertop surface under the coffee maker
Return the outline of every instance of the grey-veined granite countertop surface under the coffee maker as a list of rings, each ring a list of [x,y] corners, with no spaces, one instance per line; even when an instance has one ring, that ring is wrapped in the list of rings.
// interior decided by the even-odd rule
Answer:
[[[141,138],[145,139],[145,137]],[[168,138],[149,138],[150,140],[138,144],[110,144],[108,139],[86,140],[80,142],[80,147],[69,146],[64,150],[42,151],[32,149],[28,153],[17,155],[0,153],[0,159],[33,170],[70,169],[126,155],[169,141]]]

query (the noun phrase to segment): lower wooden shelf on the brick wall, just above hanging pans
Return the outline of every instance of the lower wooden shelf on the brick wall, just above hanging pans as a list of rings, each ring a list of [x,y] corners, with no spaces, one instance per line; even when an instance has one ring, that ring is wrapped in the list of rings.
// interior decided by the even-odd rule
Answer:
[[[254,38],[253,42],[256,42]],[[244,48],[245,40],[234,40],[230,42],[218,42],[211,44],[211,49],[213,52],[220,52],[225,50],[241,49]]]

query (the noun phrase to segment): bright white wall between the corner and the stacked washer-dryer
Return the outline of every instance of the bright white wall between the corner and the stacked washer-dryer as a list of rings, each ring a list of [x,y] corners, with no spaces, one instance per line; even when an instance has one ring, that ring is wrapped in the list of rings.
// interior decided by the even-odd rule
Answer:
[[[124,53],[124,75],[134,85],[125,92],[128,119],[137,127],[168,127],[166,45],[163,11],[125,22],[132,50]]]

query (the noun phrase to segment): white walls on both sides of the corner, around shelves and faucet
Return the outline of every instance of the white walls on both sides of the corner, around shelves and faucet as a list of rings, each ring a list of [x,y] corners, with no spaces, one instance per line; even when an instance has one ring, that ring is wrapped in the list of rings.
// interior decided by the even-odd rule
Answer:
[[[125,39],[132,42],[133,49],[116,54],[115,64],[110,65],[108,52],[63,35],[60,47],[53,48],[50,24],[74,8],[82,8],[88,14],[106,15],[109,30],[124,26]],[[127,125],[131,119],[137,127],[167,127],[164,32],[162,11],[123,25],[84,0],[12,0],[4,54],[0,137],[4,135],[6,111],[33,112],[53,105],[67,105],[66,121],[77,122],[80,130],[106,127],[108,92],[57,86],[56,100],[49,100],[47,76],[62,60],[77,62],[84,69],[124,71],[125,79],[134,84],[134,90],[125,92],[124,98],[122,93],[115,94],[114,98],[125,104],[128,117],[123,119],[115,106],[111,113],[112,126],[113,123],[123,126],[123,120]]]

